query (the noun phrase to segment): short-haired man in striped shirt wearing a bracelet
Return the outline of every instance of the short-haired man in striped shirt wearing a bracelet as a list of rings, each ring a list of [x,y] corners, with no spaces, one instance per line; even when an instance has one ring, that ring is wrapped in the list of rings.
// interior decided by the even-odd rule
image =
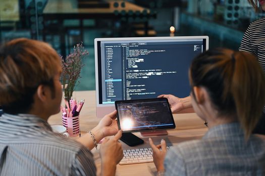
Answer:
[[[116,134],[100,146],[101,175],[115,175],[123,157],[116,112],[78,141],[47,123],[60,112],[61,72],[60,57],[47,43],[22,38],[0,48],[0,175],[96,175],[90,150]]]

